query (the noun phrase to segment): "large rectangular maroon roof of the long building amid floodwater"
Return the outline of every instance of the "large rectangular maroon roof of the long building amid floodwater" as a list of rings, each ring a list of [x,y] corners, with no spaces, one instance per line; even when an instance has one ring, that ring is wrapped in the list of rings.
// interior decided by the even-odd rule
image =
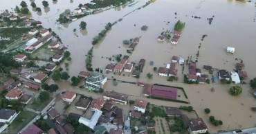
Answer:
[[[151,95],[158,98],[176,99],[177,89],[174,87],[153,85]]]

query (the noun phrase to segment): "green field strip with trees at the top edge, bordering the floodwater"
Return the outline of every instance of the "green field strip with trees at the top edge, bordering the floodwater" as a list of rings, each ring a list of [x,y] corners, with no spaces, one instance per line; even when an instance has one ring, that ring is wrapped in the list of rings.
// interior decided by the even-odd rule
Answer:
[[[91,5],[89,3],[86,3],[85,5],[88,7],[88,8],[91,8],[91,9],[97,9],[97,8],[106,8],[108,6],[120,6],[122,4],[125,4],[127,2],[127,0],[105,0],[105,1],[96,1],[96,0],[93,0],[91,1],[93,3],[95,3],[95,5]]]

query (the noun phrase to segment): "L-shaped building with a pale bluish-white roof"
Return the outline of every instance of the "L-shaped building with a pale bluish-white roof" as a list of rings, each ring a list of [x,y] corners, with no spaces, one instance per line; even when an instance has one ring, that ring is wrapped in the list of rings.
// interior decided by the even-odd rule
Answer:
[[[88,126],[91,129],[94,129],[94,127],[96,126],[100,115],[102,115],[102,111],[94,111],[93,117],[91,117],[90,120],[80,117],[78,122],[84,124],[85,126]]]

